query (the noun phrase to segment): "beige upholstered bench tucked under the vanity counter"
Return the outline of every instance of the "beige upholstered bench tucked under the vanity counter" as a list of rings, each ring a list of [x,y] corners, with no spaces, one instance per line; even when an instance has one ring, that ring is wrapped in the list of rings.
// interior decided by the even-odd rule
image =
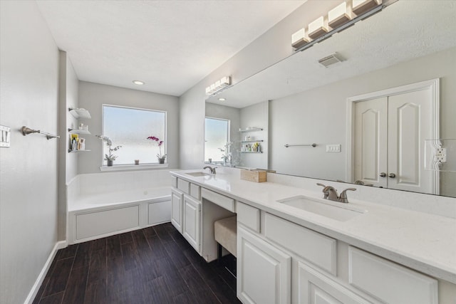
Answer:
[[[237,254],[237,228],[236,216],[219,219],[214,223],[215,241],[218,243],[218,258],[222,258],[222,246],[232,253],[233,256]]]

